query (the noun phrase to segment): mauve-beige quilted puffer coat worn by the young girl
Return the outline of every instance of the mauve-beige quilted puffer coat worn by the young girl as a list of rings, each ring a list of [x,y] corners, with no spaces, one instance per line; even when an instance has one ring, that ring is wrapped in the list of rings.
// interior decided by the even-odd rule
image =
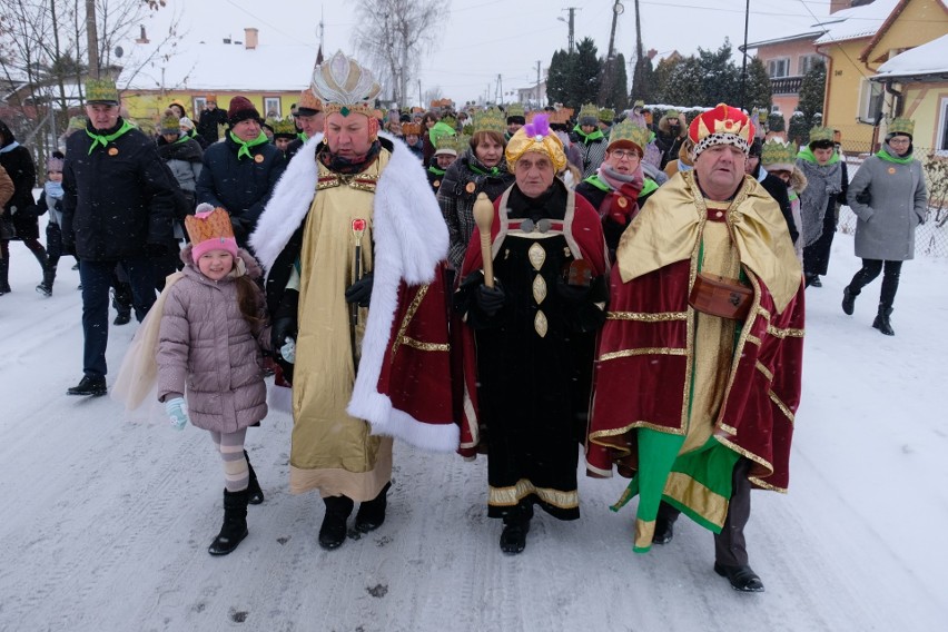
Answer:
[[[238,251],[250,278],[260,267]],[[218,282],[200,274],[191,248],[181,251],[184,278],[168,290],[158,338],[158,397],[187,393],[191,424],[233,433],[267,415],[261,348],[269,347],[268,324],[251,328],[237,305],[234,276]],[[258,296],[266,316],[263,292]],[[186,391],[187,388],[187,391]]]

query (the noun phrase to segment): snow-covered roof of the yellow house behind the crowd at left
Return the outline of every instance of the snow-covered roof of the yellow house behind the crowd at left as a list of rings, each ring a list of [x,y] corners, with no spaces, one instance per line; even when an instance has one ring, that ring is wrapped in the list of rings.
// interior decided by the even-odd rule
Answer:
[[[118,78],[121,90],[288,91],[309,85],[317,46],[136,45]]]

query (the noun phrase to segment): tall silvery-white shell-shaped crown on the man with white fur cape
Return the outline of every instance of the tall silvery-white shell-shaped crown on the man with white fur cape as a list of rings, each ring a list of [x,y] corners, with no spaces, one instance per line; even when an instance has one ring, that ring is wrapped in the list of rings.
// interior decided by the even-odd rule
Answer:
[[[372,116],[373,100],[382,87],[372,71],[358,61],[336,51],[313,70],[313,93],[323,101],[326,113],[357,112]]]

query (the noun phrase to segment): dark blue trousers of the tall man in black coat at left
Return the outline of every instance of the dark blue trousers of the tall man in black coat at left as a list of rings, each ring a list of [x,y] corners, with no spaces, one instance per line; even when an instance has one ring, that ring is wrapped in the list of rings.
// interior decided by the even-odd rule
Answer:
[[[119,261],[79,261],[79,280],[82,284],[82,372],[89,377],[105,377],[106,347],[109,344],[109,288]],[[147,257],[122,259],[131,285],[132,306],[138,322],[145,318],[155,304],[155,275]]]

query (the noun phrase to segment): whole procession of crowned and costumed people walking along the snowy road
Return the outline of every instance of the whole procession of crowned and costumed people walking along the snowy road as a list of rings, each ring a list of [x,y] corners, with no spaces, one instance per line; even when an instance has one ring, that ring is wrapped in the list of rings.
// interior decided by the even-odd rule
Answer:
[[[244,450],[268,388],[293,419],[289,491],[318,494],[325,550],[384,525],[394,442],[485,455],[510,555],[535,508],[580,519],[582,457],[591,477],[629,478],[613,508],[638,498],[633,551],[671,543],[684,513],[712,532],[713,571],[762,591],[744,527],[752,490],[789,485],[806,288],[848,204],[862,267],[842,309],[883,274],[873,327],[895,334],[927,204],[911,121],[889,125],[849,185],[831,129],[798,154],[733,105],[690,120],[670,109],[654,128],[643,103],[414,119],[378,110],[379,91],[336,52],[292,119],[211,95],[197,126],[172,102],[149,137],[115,83],[92,80],[88,120],[43,166],[46,248],[24,197],[36,168],[0,122],[13,185],[0,295],[10,239],[39,260],[47,297],[60,256],[78,259],[83,374],[68,394],[109,391],[120,273],[145,323],[118,381],[150,379],[172,425],[209,431],[221,461],[213,555],[250,535],[260,482],[278,484]],[[132,377],[149,363],[150,378]],[[154,405],[120,391],[127,407]]]

